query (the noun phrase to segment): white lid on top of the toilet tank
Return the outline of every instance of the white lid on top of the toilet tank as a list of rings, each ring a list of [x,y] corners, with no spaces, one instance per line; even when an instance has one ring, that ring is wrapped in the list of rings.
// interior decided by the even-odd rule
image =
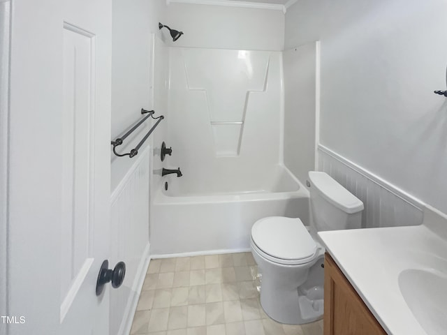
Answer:
[[[318,192],[335,207],[347,214],[354,214],[363,210],[363,202],[355,195],[338,184],[335,179],[325,172],[309,171],[309,179]]]

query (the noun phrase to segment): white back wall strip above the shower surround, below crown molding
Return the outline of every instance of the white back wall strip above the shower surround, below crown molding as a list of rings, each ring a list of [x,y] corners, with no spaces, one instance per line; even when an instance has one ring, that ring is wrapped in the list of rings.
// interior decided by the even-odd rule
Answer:
[[[171,3],[165,22],[184,35],[175,43],[163,29],[168,45],[241,50],[275,50],[284,46],[281,10]]]

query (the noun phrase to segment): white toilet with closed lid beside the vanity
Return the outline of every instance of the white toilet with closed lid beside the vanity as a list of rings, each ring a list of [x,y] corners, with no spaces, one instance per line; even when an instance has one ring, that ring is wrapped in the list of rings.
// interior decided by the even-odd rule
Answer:
[[[325,172],[309,172],[311,225],[270,216],[251,228],[261,274],[261,306],[277,322],[301,325],[323,315],[324,248],[318,231],[361,227],[363,203]]]

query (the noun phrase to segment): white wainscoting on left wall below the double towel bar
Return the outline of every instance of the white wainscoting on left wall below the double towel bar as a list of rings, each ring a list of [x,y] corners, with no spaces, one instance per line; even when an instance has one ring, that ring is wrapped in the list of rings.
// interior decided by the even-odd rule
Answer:
[[[110,287],[110,334],[129,334],[149,262],[150,151],[147,146],[133,158],[135,162],[112,191],[109,262],[110,268],[126,262],[126,277],[119,289]]]

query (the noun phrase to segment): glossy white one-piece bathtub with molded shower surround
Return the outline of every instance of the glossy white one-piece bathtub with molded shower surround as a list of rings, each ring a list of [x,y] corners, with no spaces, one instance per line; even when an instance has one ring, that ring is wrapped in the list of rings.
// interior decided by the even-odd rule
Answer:
[[[264,216],[307,223],[308,192],[282,164],[281,52],[167,49],[173,154],[162,166],[183,175],[152,195],[152,255],[248,249]]]

